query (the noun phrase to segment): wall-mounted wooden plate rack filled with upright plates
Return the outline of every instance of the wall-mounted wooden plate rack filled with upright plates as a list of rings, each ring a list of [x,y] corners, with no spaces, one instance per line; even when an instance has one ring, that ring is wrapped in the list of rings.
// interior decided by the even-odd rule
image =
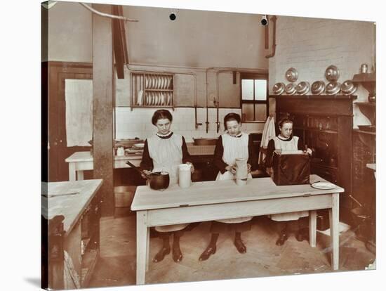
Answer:
[[[133,108],[173,108],[174,75],[164,72],[131,72]]]

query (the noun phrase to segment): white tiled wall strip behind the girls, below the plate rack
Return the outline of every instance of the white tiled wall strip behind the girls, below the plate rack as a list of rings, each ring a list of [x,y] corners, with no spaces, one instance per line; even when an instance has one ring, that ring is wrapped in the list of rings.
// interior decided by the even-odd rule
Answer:
[[[156,109],[152,108],[116,108],[115,109],[115,124],[116,138],[147,138],[157,132],[157,128],[152,124],[152,115]],[[206,133],[206,109],[197,108],[197,122],[202,123],[198,129],[195,129],[194,124],[194,108],[175,108],[171,110],[173,115],[172,130],[178,134],[182,134],[187,142],[193,141],[192,138],[215,138],[224,131],[222,120],[229,112],[241,114],[241,109],[220,109],[220,131],[216,131],[217,112],[213,108],[208,110],[209,130]],[[245,132],[262,132],[264,124],[261,123],[245,123],[242,124],[242,130]]]

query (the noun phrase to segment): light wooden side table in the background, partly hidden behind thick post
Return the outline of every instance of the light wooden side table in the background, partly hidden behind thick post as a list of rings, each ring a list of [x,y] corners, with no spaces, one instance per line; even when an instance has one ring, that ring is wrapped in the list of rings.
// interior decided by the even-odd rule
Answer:
[[[135,166],[139,167],[142,155],[115,156],[114,169],[130,168],[126,161],[130,160]],[[94,169],[94,158],[90,152],[76,152],[65,160],[68,162],[69,181],[83,180],[84,171]],[[76,174],[77,178],[76,179]]]

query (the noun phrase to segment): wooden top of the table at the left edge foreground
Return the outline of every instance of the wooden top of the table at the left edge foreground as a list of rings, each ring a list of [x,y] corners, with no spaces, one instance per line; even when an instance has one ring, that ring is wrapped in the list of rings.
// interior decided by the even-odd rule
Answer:
[[[41,212],[48,219],[56,215],[65,216],[63,224],[67,235],[72,231],[81,213],[88,207],[102,183],[102,179],[42,182]]]

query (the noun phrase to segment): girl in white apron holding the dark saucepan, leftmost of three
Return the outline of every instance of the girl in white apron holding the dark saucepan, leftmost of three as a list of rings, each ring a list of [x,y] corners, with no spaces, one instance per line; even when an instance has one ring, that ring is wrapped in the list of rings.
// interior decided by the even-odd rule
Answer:
[[[178,165],[187,163],[192,165],[189,160],[189,153],[185,138],[179,134],[174,134],[171,129],[173,117],[168,110],[157,110],[152,117],[152,124],[157,127],[157,134],[147,138],[143,149],[140,168],[143,172],[168,172],[170,184],[178,182]],[[162,195],[162,194],[160,194]],[[171,226],[156,226],[159,238],[163,240],[161,250],[156,254],[153,261],[162,261],[166,254],[171,252],[169,237],[173,234],[173,260],[182,260],[180,250],[180,237],[188,224],[174,224]]]

